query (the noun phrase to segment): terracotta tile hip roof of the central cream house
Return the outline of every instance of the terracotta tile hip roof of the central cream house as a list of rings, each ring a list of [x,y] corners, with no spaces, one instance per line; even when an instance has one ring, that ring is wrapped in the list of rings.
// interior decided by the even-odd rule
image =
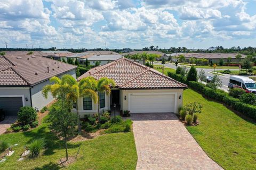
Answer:
[[[116,86],[121,89],[182,89],[187,87],[186,84],[127,58],[120,58],[114,62],[95,67],[81,75],[78,80],[89,76],[97,80],[102,77],[113,79]]]

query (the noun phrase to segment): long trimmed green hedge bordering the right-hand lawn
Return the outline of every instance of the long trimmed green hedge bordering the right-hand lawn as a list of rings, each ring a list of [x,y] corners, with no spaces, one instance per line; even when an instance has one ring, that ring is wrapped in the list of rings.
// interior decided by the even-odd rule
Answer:
[[[206,87],[205,84],[202,84],[200,82],[187,81],[187,79],[182,75],[168,72],[168,76],[174,80],[187,84],[189,88],[201,92],[201,94],[203,94],[204,96],[231,106],[236,111],[241,112],[242,114],[256,120],[256,106],[242,103],[239,99],[229,96],[228,93],[223,90],[218,89],[214,91],[213,89]]]

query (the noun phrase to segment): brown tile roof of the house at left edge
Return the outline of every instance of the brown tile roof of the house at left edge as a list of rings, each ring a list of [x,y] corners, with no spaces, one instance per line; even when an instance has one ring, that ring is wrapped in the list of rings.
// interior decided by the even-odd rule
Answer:
[[[76,67],[34,54],[11,53],[0,56],[0,86],[31,86]]]

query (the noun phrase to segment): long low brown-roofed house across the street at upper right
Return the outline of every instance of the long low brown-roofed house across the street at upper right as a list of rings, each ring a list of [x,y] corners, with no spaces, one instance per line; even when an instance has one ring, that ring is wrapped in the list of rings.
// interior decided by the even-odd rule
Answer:
[[[175,60],[175,58],[178,58],[179,55],[181,54],[178,53],[177,55],[173,56],[173,61]],[[208,61],[212,60],[213,63],[219,63],[220,58],[223,58],[224,62],[227,62],[227,58],[231,57],[231,62],[238,62],[238,60],[236,59],[237,53],[183,53],[182,55],[185,56],[186,62],[189,62],[189,59],[192,57],[197,59],[205,58]],[[246,57],[243,54],[241,55],[242,59]]]

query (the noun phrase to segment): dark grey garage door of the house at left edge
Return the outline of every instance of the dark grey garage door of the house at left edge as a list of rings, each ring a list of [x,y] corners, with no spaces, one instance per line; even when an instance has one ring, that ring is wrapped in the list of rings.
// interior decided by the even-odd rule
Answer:
[[[21,97],[0,97],[0,108],[4,109],[7,116],[17,116],[22,106]]]

